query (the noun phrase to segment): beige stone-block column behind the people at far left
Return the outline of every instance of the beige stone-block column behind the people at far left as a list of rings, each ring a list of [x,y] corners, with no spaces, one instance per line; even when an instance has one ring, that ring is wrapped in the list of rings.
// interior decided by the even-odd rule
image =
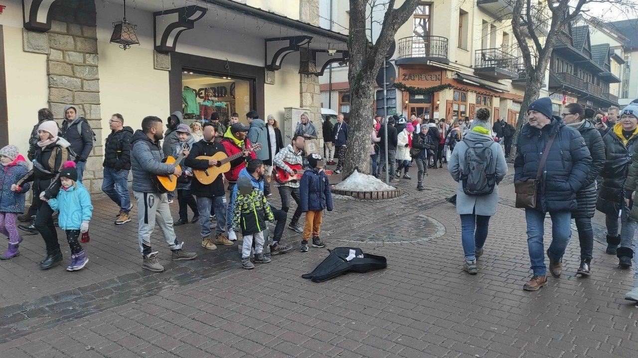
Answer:
[[[74,104],[87,119],[96,141],[84,170],[84,186],[101,193],[103,141],[101,134],[98,39],[94,25],[54,20],[48,31],[47,57],[49,107],[60,123],[64,106]]]

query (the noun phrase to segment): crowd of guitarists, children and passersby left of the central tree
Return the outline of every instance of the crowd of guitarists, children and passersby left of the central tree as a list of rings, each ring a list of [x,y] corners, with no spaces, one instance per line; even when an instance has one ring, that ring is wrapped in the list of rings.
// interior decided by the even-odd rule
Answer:
[[[174,230],[175,226],[188,222],[200,223],[202,247],[207,250],[216,250],[217,245],[235,245],[236,233],[241,232],[243,268],[255,268],[253,262],[270,262],[271,255],[292,250],[292,245],[282,241],[291,197],[297,209],[288,227],[302,234],[299,250],[308,251],[311,236],[313,247],[325,247],[320,240],[322,212],[332,210],[332,196],[323,157],[304,153],[306,139],[316,138],[316,129],[308,118],[308,113],[302,115],[298,132],[284,147],[274,116],[269,115],[264,122],[256,111],[246,113],[249,125],[240,123],[237,113],[230,115],[227,124],[219,120],[219,113],[212,113],[207,120],[187,125],[182,113],[175,111],[167,118],[166,131],[159,117],[145,117],[141,129],[133,131],[124,125],[121,114],[112,115],[108,121],[111,132],[104,145],[102,190],[119,208],[114,224],[130,222],[133,203],[128,179],[132,173],[142,268],[154,272],[164,270],[158,261],[158,252],[151,246],[156,224],[173,261],[195,259],[197,253],[186,250]],[[339,132],[347,136],[343,117],[341,123],[343,127],[336,136]],[[61,126],[54,120],[52,111],[43,108],[38,111],[38,124],[34,125],[29,140],[27,157],[32,166],[15,145],[0,149],[4,169],[0,171],[0,231],[9,239],[8,249],[0,259],[20,255],[22,237],[18,229],[22,229],[28,234],[40,234],[45,241],[46,255],[40,268],[56,266],[63,260],[57,221],[70,247],[71,262],[67,270],[78,271],[86,266],[89,258],[80,242],[90,240],[93,206],[82,178],[95,140],[91,126],[78,116],[75,106],[64,108]],[[230,170],[219,173],[212,182],[200,182],[195,175],[198,171],[207,173],[223,164],[223,159],[215,159],[220,152],[228,158]],[[168,156],[175,161],[165,161]],[[288,178],[278,177],[274,182],[282,199],[281,210],[267,199],[272,196],[270,182],[274,169],[289,174]],[[170,213],[173,193],[158,180],[158,177],[169,176],[176,180],[179,218],[175,222]],[[29,190],[33,192],[33,200],[25,212],[25,196]],[[190,220],[189,209],[192,211]],[[302,228],[299,222],[304,213]],[[214,233],[212,219],[216,221]],[[17,221],[29,224],[17,225]],[[275,224],[272,236],[269,222]]]

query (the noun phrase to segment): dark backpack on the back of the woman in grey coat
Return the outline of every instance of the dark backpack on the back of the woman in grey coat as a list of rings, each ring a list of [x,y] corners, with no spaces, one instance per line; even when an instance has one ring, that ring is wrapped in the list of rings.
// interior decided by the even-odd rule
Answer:
[[[492,194],[496,186],[496,165],[494,164],[494,154],[489,145],[484,143],[474,143],[463,140],[468,146],[465,151],[465,167],[461,170],[461,182],[463,192],[470,196],[484,196]]]

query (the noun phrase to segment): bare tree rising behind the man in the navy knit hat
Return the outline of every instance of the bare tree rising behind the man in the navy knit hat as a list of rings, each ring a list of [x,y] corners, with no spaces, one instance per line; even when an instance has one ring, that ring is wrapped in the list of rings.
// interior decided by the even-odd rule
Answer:
[[[512,0],[514,10],[512,11],[512,32],[521,49],[523,66],[525,69],[527,89],[521,103],[521,111],[516,122],[516,135],[514,136],[514,146],[510,152],[510,159],[516,157],[516,143],[518,142],[521,127],[527,121],[527,108],[532,101],[538,98],[540,88],[545,79],[545,71],[551,61],[552,51],[556,41],[563,31],[570,26],[571,22],[580,15],[584,6],[597,4],[595,6],[607,6],[617,10],[630,10],[635,13],[635,2],[632,0],[550,0],[539,5],[532,0]],[[539,24],[538,18],[549,14],[547,19],[549,29],[545,36],[545,24]],[[522,20],[522,21],[521,21]],[[526,27],[526,34],[521,29],[521,24]],[[528,36],[526,36],[528,35]],[[541,41],[544,38],[545,41]],[[531,41],[528,43],[528,41]]]

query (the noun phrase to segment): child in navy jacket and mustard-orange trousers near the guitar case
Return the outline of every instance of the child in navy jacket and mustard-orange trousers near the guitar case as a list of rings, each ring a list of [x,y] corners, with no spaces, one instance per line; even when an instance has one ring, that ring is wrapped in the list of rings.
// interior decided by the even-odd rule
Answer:
[[[313,247],[325,247],[319,239],[323,209],[332,211],[332,193],[328,176],[323,172],[323,158],[313,153],[306,158],[309,168],[304,171],[299,182],[301,211],[306,213],[306,226],[301,239],[300,252],[308,251],[308,239],[313,235]]]

